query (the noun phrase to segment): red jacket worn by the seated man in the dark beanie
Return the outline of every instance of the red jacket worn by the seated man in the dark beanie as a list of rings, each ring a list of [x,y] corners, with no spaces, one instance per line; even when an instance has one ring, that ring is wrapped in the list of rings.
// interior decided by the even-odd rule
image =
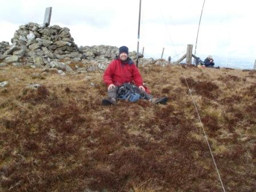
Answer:
[[[122,63],[119,58],[114,59],[107,66],[103,75],[103,81],[107,86],[110,84],[120,86],[126,82],[134,82],[137,86],[143,85],[141,74],[130,58],[125,63]]]

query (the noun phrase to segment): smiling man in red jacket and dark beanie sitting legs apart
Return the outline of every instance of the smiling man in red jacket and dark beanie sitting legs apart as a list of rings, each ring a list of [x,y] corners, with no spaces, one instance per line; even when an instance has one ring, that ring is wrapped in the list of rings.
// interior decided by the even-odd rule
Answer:
[[[114,59],[103,75],[103,81],[107,85],[108,98],[102,100],[103,105],[115,105],[117,103],[117,92],[119,86],[123,83],[135,83],[141,94],[145,95],[145,99],[154,104],[165,104],[167,97],[153,98],[152,95],[146,93],[145,86],[138,68],[134,65],[131,58],[128,57],[129,49],[126,46],[119,47],[119,57]]]

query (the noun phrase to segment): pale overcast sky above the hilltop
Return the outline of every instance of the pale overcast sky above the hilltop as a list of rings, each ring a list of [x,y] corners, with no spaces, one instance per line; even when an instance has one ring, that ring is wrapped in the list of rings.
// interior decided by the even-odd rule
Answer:
[[[0,0],[0,5],[0,41],[10,42],[19,25],[42,24],[45,8],[51,6],[50,25],[68,27],[78,46],[126,45],[137,50],[139,0]],[[139,50],[145,47],[145,57],[157,59],[165,47],[163,57],[177,60],[187,44],[195,48],[202,5],[203,0],[142,0]],[[254,0],[206,0],[197,56],[211,54],[226,65],[244,61],[253,67],[255,5]]]

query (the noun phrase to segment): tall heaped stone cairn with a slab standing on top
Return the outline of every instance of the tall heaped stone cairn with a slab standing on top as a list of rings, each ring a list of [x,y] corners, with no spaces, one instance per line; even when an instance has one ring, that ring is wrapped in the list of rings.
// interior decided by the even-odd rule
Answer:
[[[78,47],[66,27],[58,25],[45,27],[37,23],[19,26],[11,39],[13,46],[4,54],[25,57],[46,56],[58,58],[60,55],[78,52]],[[69,57],[71,55],[67,55]]]

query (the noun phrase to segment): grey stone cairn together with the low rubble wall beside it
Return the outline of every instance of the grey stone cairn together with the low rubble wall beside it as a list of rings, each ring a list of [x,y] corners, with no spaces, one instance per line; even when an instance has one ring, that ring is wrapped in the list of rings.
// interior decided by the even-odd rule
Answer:
[[[27,23],[19,26],[9,42],[0,43],[0,67],[6,65],[57,68],[62,71],[87,72],[105,70],[118,55],[118,47],[98,45],[78,47],[67,27]],[[135,51],[129,57],[136,59]],[[141,59],[153,63],[154,59]],[[76,64],[75,64],[76,63]],[[71,64],[73,64],[72,67]],[[75,67],[74,67],[75,66]]]

